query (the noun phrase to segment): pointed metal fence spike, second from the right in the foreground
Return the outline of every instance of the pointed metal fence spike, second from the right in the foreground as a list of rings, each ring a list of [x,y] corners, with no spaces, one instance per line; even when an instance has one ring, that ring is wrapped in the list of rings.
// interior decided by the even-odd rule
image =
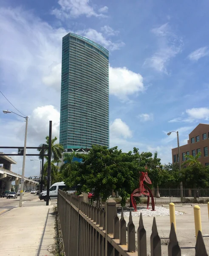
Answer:
[[[175,226],[173,222],[171,223],[170,228],[168,256],[181,256],[181,248],[178,245],[178,240],[175,233]]]

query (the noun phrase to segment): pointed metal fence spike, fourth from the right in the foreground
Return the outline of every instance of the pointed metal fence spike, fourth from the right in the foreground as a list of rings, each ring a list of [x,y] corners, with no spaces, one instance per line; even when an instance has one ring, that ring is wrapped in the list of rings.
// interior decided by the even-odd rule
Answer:
[[[138,256],[147,256],[147,237],[144,229],[142,214],[140,213],[139,225],[137,230]]]

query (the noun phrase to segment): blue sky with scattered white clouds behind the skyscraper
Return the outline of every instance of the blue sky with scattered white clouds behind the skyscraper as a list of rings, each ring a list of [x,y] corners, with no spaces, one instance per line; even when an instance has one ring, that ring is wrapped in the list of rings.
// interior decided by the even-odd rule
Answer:
[[[110,146],[158,151],[172,161],[175,134],[185,144],[209,122],[209,2],[0,0],[0,90],[30,116],[28,145],[53,120],[59,137],[62,37],[78,33],[110,51]],[[15,109],[0,95],[0,109]],[[23,119],[0,112],[1,145],[23,145]],[[30,151],[31,152],[31,151]],[[21,172],[22,158],[14,157]],[[39,166],[26,161],[26,175]]]

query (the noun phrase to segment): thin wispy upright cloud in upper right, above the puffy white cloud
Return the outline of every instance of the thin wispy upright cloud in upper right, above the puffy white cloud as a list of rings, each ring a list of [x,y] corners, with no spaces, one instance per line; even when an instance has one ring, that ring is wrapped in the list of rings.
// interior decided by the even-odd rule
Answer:
[[[181,52],[183,41],[169,28],[169,24],[152,29],[153,34],[158,37],[158,50],[144,61],[144,66],[152,67],[158,72],[168,73],[167,64]]]

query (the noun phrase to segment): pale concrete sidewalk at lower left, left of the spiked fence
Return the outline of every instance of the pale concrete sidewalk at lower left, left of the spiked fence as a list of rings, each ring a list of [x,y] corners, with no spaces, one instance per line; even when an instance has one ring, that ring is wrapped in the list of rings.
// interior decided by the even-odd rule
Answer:
[[[15,208],[0,216],[0,255],[53,255],[53,213],[53,206],[34,206]]]

